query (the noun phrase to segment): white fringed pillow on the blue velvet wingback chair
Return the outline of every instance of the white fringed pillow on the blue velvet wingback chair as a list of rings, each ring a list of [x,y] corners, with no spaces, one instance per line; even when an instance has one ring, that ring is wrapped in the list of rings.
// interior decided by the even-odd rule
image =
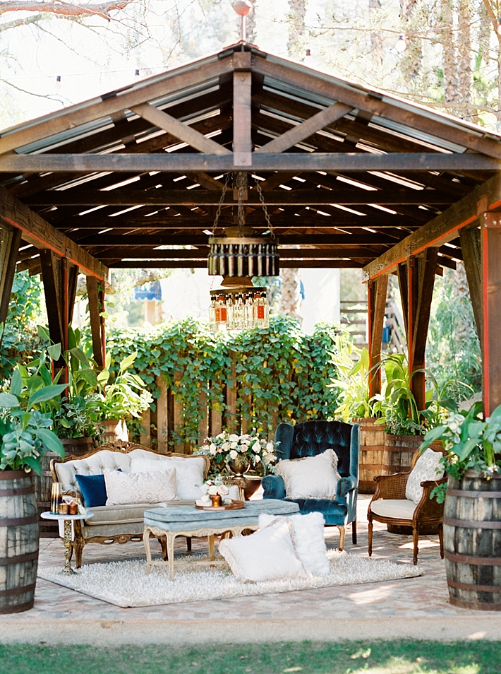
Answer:
[[[335,499],[337,480],[337,454],[326,449],[317,456],[305,459],[284,459],[277,463],[277,473],[285,483],[288,499]]]

